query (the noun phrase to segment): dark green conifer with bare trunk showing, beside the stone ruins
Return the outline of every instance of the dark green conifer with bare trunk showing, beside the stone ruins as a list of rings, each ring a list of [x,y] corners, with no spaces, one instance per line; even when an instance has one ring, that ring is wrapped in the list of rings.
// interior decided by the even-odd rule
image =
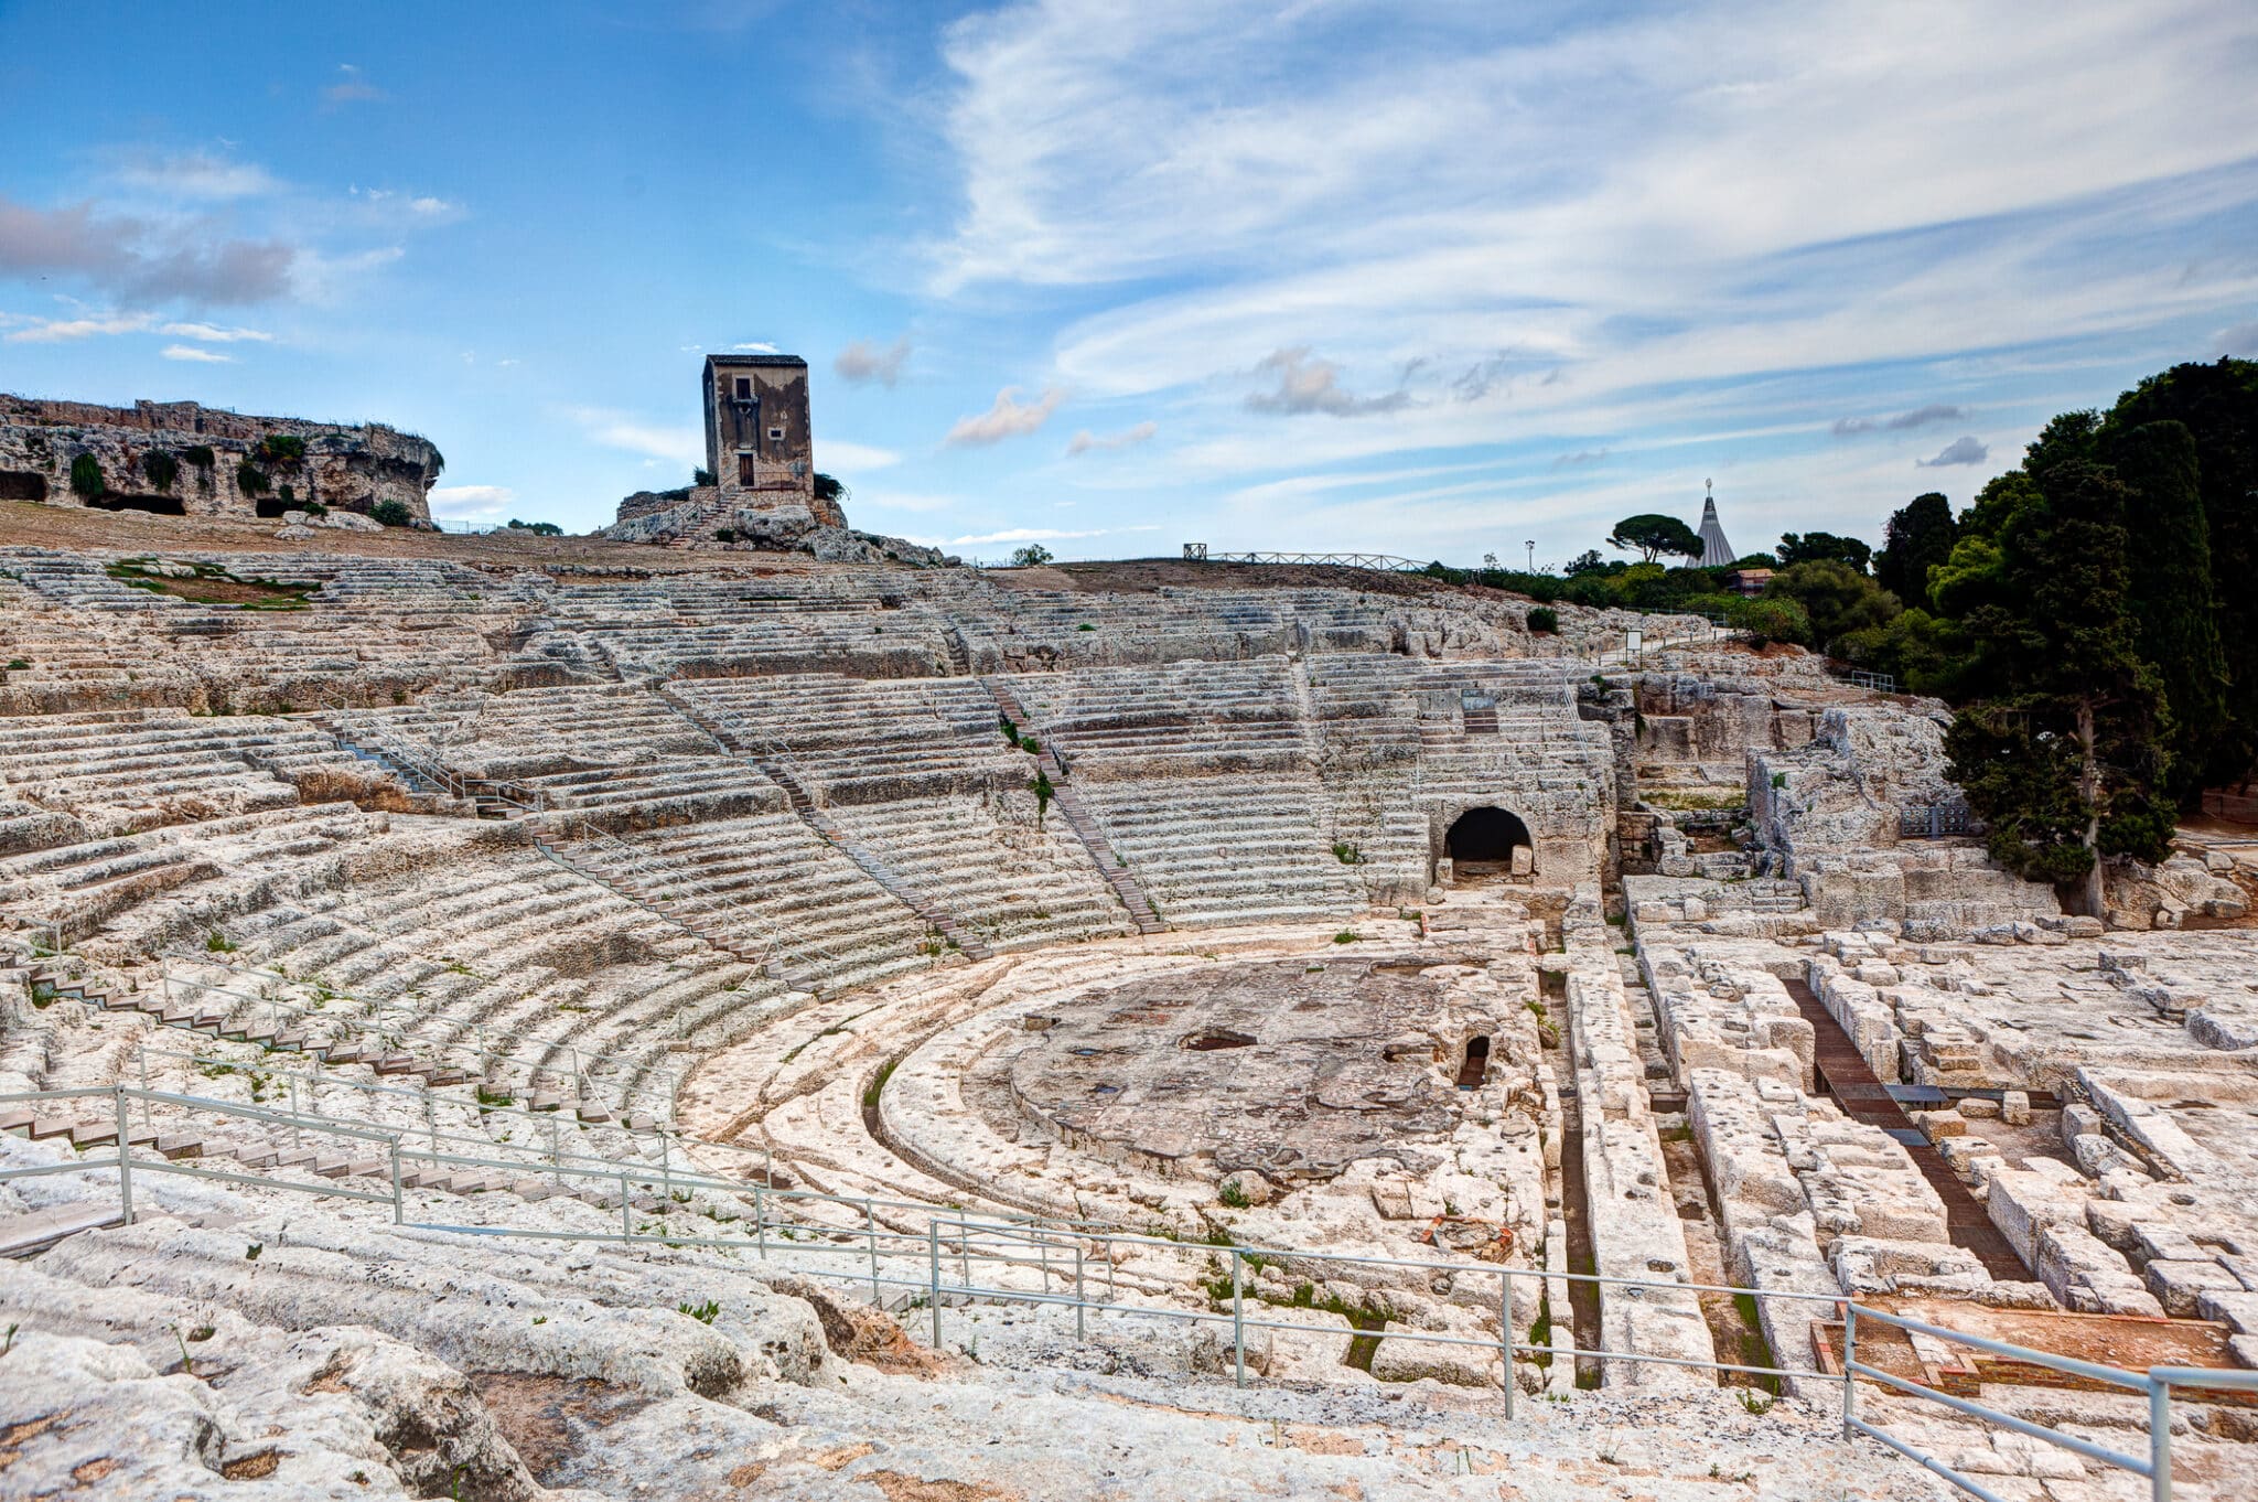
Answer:
[[[2037,483],[2037,504],[2001,531],[1989,599],[1967,617],[1985,698],[1953,718],[1944,750],[1992,824],[1992,858],[2075,883],[2098,917],[2100,856],[2161,861],[2170,847],[2170,714],[2132,617],[2134,492],[2077,459]]]

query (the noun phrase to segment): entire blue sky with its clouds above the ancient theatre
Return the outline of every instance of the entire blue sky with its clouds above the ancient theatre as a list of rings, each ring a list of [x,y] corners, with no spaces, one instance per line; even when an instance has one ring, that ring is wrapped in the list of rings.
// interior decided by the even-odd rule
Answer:
[[[1879,540],[2258,355],[2258,7],[0,0],[0,391],[382,420],[440,515],[813,366],[996,558]]]

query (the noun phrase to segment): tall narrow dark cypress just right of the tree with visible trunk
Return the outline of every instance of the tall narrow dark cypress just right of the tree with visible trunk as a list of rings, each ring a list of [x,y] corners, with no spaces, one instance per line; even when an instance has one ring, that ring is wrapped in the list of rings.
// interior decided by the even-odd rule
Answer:
[[[2104,449],[2138,497],[2125,529],[2129,610],[2141,657],[2156,671],[2172,711],[2170,788],[2188,804],[2202,793],[2226,730],[2226,653],[2195,436],[2181,422],[2143,422],[2111,431]]]

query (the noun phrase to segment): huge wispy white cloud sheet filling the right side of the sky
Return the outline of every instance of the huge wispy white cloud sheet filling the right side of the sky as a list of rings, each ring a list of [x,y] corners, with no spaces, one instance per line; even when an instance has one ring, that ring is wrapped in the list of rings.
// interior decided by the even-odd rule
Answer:
[[[1845,411],[1910,447],[1955,422],[1890,427],[1931,407],[2023,418],[1998,416],[2016,377],[1969,359],[2116,379],[2258,305],[2249,7],[1420,16],[1025,0],[953,25],[964,192],[933,289],[1027,309],[1075,289],[1052,379],[1167,393],[1192,483],[1481,449],[1547,486],[1639,465],[1651,486],[1653,443],[1763,434],[1705,463],[1752,459]],[[2113,391],[2039,386],[2014,398]],[[1368,402],[1391,411],[1276,420]],[[1827,495],[1836,531],[1903,504],[1917,456],[1845,447],[1865,490]]]

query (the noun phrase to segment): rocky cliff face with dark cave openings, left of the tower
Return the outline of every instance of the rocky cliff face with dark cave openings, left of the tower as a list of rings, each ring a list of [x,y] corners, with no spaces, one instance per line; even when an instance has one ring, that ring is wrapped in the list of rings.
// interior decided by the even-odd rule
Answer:
[[[305,422],[196,402],[95,407],[0,395],[0,499],[165,515],[280,517],[307,501],[429,522],[438,449],[368,422]]]

